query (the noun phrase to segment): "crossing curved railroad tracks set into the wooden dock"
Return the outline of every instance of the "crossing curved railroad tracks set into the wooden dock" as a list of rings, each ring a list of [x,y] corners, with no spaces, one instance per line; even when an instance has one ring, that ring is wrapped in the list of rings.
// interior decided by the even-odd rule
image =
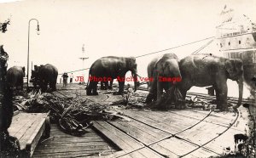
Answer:
[[[144,87],[138,87],[137,90],[148,91],[148,89],[147,89],[147,88],[144,88]],[[63,91],[63,90],[62,90],[62,91]],[[73,94],[80,95],[80,96],[81,96],[81,95],[82,95],[82,96],[85,95],[85,94],[78,93],[77,91],[76,91],[76,92],[73,92],[73,91],[75,91],[75,90],[70,89],[70,90],[68,90],[68,93],[73,93]],[[69,98],[69,96],[67,95],[67,93],[62,93],[61,91],[56,91],[56,92],[54,92],[53,94],[54,94],[55,96],[58,96],[58,97],[60,97],[60,95],[61,95],[61,98]],[[207,100],[215,99],[214,96],[208,96],[207,94],[203,94],[203,93],[188,93],[188,95],[189,95],[189,96],[197,96],[197,97],[200,98],[200,99],[207,99]],[[236,99],[236,98],[230,98],[230,99],[229,99],[229,102],[230,102],[230,103],[236,103],[236,102],[237,102],[237,99]],[[252,100],[246,100],[246,99],[245,99],[245,100],[243,100],[243,103],[251,104],[251,103],[252,103]],[[169,111],[169,112],[172,113],[172,111]],[[237,119],[239,118],[239,112],[236,112],[236,118],[235,118],[232,122],[230,122],[230,126],[226,127],[226,129],[225,129],[224,131],[222,131],[221,133],[219,133],[218,136],[211,138],[210,140],[208,140],[208,141],[207,141],[206,143],[204,143],[204,144],[196,144],[196,143],[193,142],[193,141],[189,141],[189,140],[186,139],[186,138],[180,137],[178,134],[179,134],[179,133],[186,132],[186,131],[188,131],[189,129],[195,127],[195,126],[198,126],[199,124],[201,124],[201,122],[206,121],[206,119],[207,119],[209,116],[213,116],[213,115],[212,115],[212,111],[209,111],[209,113],[207,114],[207,116],[205,116],[204,118],[198,120],[195,124],[193,124],[193,125],[191,125],[191,126],[185,128],[185,129],[183,129],[183,130],[180,130],[180,131],[178,131],[177,133],[170,133],[170,132],[168,132],[168,131],[166,131],[166,130],[164,130],[164,129],[160,129],[160,128],[158,128],[158,127],[151,126],[151,125],[149,125],[147,122],[140,121],[139,119],[134,118],[134,117],[131,117],[131,116],[129,116],[129,115],[125,115],[125,114],[124,114],[124,116],[129,117],[131,120],[134,120],[134,121],[138,121],[138,122],[140,122],[140,123],[143,123],[144,125],[146,125],[146,126],[148,126],[148,127],[152,127],[152,128],[154,128],[154,129],[160,130],[160,131],[163,132],[163,133],[167,133],[168,135],[167,135],[165,138],[160,138],[160,139],[158,139],[158,140],[156,140],[156,141],[154,141],[154,142],[152,142],[152,143],[150,143],[150,144],[145,144],[145,143],[143,143],[140,139],[138,139],[138,138],[132,136],[132,135],[129,134],[129,133],[126,133],[124,130],[122,130],[122,129],[120,129],[119,127],[115,126],[112,121],[105,121],[106,123],[108,123],[108,125],[117,128],[117,129],[120,130],[121,132],[123,132],[123,133],[125,133],[125,134],[128,134],[129,137],[135,139],[135,140],[136,140],[137,142],[139,142],[140,144],[143,144],[142,147],[137,148],[136,150],[131,150],[131,151],[129,151],[129,152],[125,152],[124,154],[117,155],[117,156],[115,156],[115,157],[122,157],[122,156],[125,156],[125,155],[129,155],[129,154],[131,154],[131,153],[134,153],[134,152],[136,152],[136,151],[138,151],[138,150],[142,150],[142,149],[144,149],[144,148],[147,148],[147,149],[149,149],[149,150],[153,150],[155,153],[157,153],[157,154],[159,154],[159,155],[161,155],[161,156],[166,156],[166,155],[161,154],[160,152],[158,152],[158,150],[155,150],[155,149],[152,148],[151,146],[154,145],[154,144],[158,144],[158,143],[160,143],[161,141],[164,141],[164,140],[166,140],[166,139],[168,139],[168,138],[177,138],[177,139],[183,140],[184,142],[187,142],[187,143],[189,143],[189,144],[193,144],[193,145],[196,146],[196,148],[195,148],[194,150],[191,150],[190,152],[188,152],[188,153],[186,153],[186,154],[184,154],[184,155],[181,155],[181,157],[183,157],[183,156],[189,155],[189,154],[192,153],[192,152],[195,152],[196,150],[201,150],[201,149],[203,149],[203,150],[209,150],[210,152],[219,155],[219,153],[215,152],[214,150],[210,150],[210,149],[208,149],[208,148],[205,147],[205,146],[206,146],[207,144],[211,143],[212,141],[216,140],[217,138],[219,138],[219,137],[220,137],[221,135],[223,135],[224,133],[226,133],[226,132],[236,123]]]

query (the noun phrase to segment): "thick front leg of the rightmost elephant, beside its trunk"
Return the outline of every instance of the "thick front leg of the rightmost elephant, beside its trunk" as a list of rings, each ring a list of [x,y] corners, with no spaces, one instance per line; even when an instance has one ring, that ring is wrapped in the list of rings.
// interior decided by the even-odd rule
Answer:
[[[227,95],[228,87],[227,82],[218,82],[216,85],[216,101],[218,110],[228,110]]]

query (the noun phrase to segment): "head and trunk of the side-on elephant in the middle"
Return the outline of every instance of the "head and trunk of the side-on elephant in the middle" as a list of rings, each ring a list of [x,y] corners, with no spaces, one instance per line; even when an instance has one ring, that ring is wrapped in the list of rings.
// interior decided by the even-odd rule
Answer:
[[[134,91],[137,91],[137,63],[134,57],[127,58],[126,66],[129,71],[131,71],[131,76],[134,78]]]

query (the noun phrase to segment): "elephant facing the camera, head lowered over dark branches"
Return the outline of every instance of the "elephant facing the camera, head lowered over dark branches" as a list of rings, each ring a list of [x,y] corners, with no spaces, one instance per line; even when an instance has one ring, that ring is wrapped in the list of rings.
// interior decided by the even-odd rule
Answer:
[[[148,78],[153,82],[149,82],[149,93],[145,101],[146,104],[154,100],[160,100],[163,90],[176,86],[180,82],[182,75],[178,66],[179,59],[176,54],[164,54],[160,57],[152,59],[147,67]],[[164,81],[164,78],[170,80]]]

